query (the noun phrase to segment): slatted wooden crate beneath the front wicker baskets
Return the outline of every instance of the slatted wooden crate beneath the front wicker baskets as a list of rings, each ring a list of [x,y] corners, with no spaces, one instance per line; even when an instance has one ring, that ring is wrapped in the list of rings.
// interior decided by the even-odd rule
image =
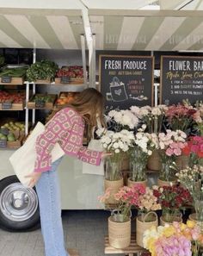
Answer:
[[[105,236],[105,248],[104,248],[104,254],[119,254],[122,253],[124,255],[133,256],[133,253],[137,253],[137,255],[141,256],[141,253],[145,253],[147,250],[143,247],[139,247],[135,240],[135,233],[132,233],[131,235],[131,244],[129,247],[126,247],[124,249],[116,249],[114,247],[111,247],[108,242],[108,236]]]

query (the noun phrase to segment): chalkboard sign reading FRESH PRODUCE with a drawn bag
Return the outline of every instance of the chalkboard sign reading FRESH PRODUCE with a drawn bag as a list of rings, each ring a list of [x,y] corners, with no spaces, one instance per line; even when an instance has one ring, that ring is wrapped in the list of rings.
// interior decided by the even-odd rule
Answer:
[[[100,55],[100,91],[106,109],[153,104],[151,56]]]

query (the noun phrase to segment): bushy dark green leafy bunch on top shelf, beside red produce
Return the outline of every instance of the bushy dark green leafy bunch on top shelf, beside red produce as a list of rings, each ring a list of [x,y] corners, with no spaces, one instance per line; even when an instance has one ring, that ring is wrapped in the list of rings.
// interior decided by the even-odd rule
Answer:
[[[28,82],[36,81],[37,79],[52,79],[58,71],[58,65],[50,60],[41,60],[32,64],[27,70]]]

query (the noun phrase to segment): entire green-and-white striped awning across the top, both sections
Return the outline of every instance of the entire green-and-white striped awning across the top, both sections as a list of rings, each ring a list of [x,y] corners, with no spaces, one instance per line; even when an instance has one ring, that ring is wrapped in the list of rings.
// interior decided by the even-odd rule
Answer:
[[[172,6],[168,0],[105,2],[1,0],[0,47],[81,49],[81,34],[93,33],[96,50],[203,50],[200,0],[173,0]],[[186,2],[191,3],[183,9],[193,4],[194,10],[167,9]],[[140,9],[152,3],[160,3],[164,10]]]

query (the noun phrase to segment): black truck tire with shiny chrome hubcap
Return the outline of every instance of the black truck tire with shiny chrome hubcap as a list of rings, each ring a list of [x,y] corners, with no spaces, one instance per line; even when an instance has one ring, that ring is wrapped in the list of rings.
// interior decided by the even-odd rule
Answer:
[[[0,225],[10,231],[39,228],[40,211],[34,189],[24,187],[16,176],[0,181]]]

